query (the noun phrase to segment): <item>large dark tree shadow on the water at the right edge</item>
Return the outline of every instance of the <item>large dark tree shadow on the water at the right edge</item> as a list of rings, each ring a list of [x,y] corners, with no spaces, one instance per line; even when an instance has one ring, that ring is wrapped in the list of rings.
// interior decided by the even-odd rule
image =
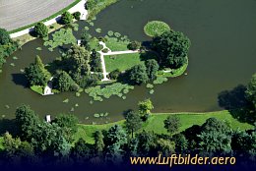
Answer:
[[[219,96],[219,105],[228,110],[233,118],[240,122],[254,124],[255,109],[245,97],[245,85],[237,85],[231,90],[222,91]]]

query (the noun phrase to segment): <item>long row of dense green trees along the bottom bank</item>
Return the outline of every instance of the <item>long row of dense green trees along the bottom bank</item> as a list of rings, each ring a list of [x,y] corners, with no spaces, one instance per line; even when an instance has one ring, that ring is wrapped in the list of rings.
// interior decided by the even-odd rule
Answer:
[[[146,101],[141,102],[146,103]],[[237,155],[254,159],[256,130],[232,130],[228,122],[209,118],[202,126],[194,125],[179,133],[181,123],[178,115],[164,120],[169,135],[142,130],[142,111],[129,111],[124,127],[114,125],[108,130],[96,131],[95,142],[84,139],[74,142],[78,120],[73,115],[59,115],[51,123],[41,121],[27,105],[16,111],[18,137],[6,133],[3,163],[32,164],[109,164],[129,162],[130,156],[170,156],[173,153],[199,153],[206,156]],[[246,158],[247,160],[247,158]]]

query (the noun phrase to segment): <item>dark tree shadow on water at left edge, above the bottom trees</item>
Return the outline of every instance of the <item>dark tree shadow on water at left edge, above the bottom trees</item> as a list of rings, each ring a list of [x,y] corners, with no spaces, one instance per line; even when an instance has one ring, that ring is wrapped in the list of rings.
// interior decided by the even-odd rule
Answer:
[[[0,135],[9,132],[13,137],[18,136],[19,129],[15,119],[1,119],[0,120]]]

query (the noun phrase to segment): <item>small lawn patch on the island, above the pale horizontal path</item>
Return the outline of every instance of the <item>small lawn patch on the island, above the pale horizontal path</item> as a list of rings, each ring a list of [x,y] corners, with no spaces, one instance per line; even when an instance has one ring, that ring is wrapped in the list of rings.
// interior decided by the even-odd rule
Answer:
[[[111,51],[124,51],[128,50],[127,45],[129,44],[128,40],[118,40],[116,37],[108,37],[105,45],[111,49]]]

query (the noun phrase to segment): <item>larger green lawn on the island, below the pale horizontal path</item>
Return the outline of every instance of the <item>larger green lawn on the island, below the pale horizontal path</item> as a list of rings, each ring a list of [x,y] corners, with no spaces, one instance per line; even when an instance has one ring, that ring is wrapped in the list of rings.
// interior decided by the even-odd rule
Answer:
[[[106,72],[111,72],[116,69],[125,71],[137,64],[143,64],[143,61],[141,61],[140,58],[140,53],[106,55],[104,56],[104,59]]]

